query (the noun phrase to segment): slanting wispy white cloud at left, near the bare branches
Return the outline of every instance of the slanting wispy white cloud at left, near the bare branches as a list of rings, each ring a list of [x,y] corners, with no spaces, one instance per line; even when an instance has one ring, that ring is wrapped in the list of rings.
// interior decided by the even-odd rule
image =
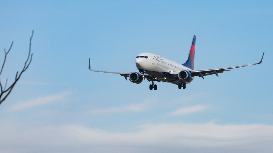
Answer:
[[[57,93],[54,95],[38,97],[38,98],[30,99],[26,102],[18,102],[17,104],[11,106],[11,108],[8,111],[18,111],[22,109],[28,109],[34,106],[49,104],[52,102],[64,101],[65,97],[71,93],[72,92],[70,90],[66,90],[64,92]]]

